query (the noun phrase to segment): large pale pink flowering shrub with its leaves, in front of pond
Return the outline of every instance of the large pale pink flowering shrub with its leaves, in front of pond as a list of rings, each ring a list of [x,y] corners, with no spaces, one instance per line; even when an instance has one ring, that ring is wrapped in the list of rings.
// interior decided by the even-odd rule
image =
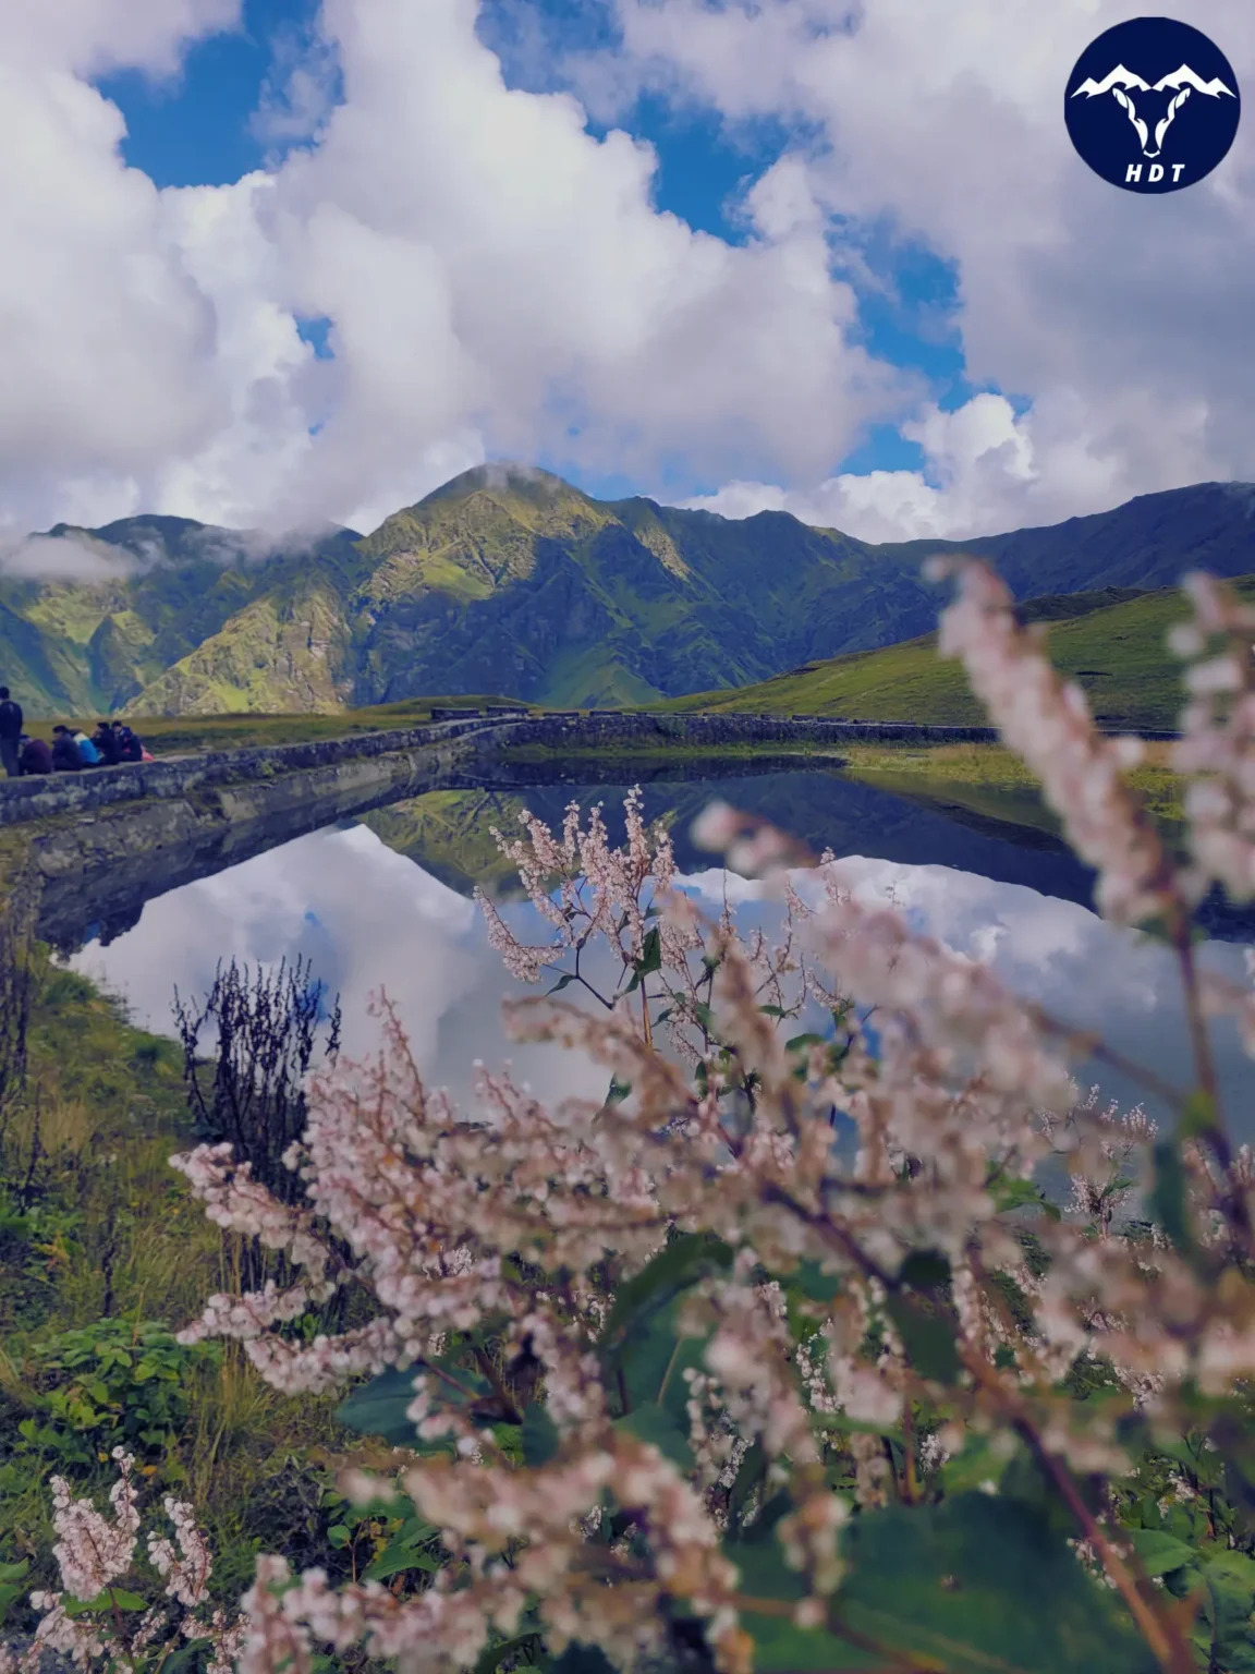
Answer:
[[[1195,926],[1215,886],[1255,896],[1255,611],[1190,583],[1178,859],[1138,742],[1098,732],[997,578],[957,579],[942,653],[1099,909],[1173,947],[1193,1080],[855,902],[830,857],[803,899],[817,862],[728,809],[699,837],[778,887],[778,946],[698,912],[636,797],[619,849],[599,810],[524,815],[502,844],[552,936],[485,914],[515,976],[557,981],[510,1023],[596,1060],[604,1100],[480,1070],[460,1113],[382,1003],[376,1061],[310,1085],[301,1204],[229,1147],[174,1158],[300,1274],[184,1339],[239,1339],[295,1398],[353,1386],[343,1420],[395,1451],[340,1488],[408,1528],[340,1587],[258,1558],[241,1674],[351,1647],[480,1674],[1255,1669],[1255,1162],[1211,1045],[1227,1018],[1255,1051],[1255,999]],[[1078,1088],[1093,1058],[1171,1127]],[[370,1317],[295,1334],[341,1287]]]

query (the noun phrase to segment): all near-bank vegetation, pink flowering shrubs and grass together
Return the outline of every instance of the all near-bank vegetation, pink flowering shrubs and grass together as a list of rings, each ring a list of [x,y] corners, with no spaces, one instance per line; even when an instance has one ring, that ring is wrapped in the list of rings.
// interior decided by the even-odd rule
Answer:
[[[1250,1035],[1250,993],[1200,971],[1191,921],[1210,884],[1255,891],[1255,611],[1208,584],[1195,609],[1175,755],[1210,788],[1191,870],[997,581],[969,566],[947,613],[1104,916],[1176,956],[1180,1085],[1104,1060],[1165,1101],[1166,1132],[1078,1100],[1091,1041],[825,860],[807,899],[785,894],[776,944],[701,917],[638,793],[621,849],[599,810],[502,837],[542,946],[482,902],[507,969],[546,984],[510,1008],[517,1038],[606,1073],[582,1108],[489,1070],[458,1118],[387,1008],[376,1061],[306,1083],[338,1021],[300,966],[219,974],[177,1006],[171,1056],[10,916],[0,1610],[59,1649],[99,1634],[114,1671],[201,1674],[211,1646],[154,1652],[129,1615],[172,1553],[146,1567],[127,1543],[137,1470],[149,1505],[182,1502],[164,1502],[181,1545],[194,1508],[224,1602],[256,1558],[248,1674],[366,1654],[475,1674],[1248,1674],[1255,1170],[1208,1031]],[[982,760],[952,772],[979,787]],[[815,859],[728,807],[696,842],[775,884]],[[587,1009],[556,998],[572,984]],[[179,1147],[204,1242],[136,1135],[152,1162]],[[204,1311],[176,1334],[191,1277]],[[330,1458],[371,1475],[328,1487]],[[115,1518],[70,1505],[117,1473]]]

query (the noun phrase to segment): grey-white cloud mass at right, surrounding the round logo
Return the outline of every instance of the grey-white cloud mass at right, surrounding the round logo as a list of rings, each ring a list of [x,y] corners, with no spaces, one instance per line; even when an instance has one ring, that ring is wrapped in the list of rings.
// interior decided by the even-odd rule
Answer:
[[[1032,402],[1019,420],[989,398],[924,412],[904,430],[927,474],[808,487],[817,479],[795,470],[731,482],[706,504],[786,506],[870,537],[962,536],[1255,477],[1250,124],[1208,181],[1145,199],[1093,176],[1061,121],[1073,62],[1126,8],[617,0],[617,12],[631,60],[616,59],[621,102],[654,85],[733,122],[815,124],[828,149],[791,162],[793,196],[843,218],[847,241],[889,226],[952,261],[969,377]],[[1250,84],[1243,0],[1198,0],[1190,22]]]

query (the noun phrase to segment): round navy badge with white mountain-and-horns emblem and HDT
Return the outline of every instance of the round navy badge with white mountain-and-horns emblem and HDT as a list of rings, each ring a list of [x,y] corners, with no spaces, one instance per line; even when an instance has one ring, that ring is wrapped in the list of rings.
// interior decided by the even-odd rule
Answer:
[[[1084,49],[1063,114],[1094,174],[1130,193],[1176,193],[1223,159],[1242,95],[1232,64],[1201,30],[1135,17]]]

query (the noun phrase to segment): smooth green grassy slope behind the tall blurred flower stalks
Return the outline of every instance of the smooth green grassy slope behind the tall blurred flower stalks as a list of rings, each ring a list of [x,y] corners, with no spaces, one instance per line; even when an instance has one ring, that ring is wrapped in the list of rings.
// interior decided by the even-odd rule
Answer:
[[[1255,576],[1237,583],[1255,599]],[[1168,629],[1188,616],[1176,588],[1106,589],[1029,599],[1026,621],[1044,621],[1054,666],[1079,681],[1099,721],[1111,727],[1176,725],[1185,703]],[[845,720],[984,725],[962,665],[937,658],[937,634],[855,656],[810,663],[738,691],[708,691],[659,705],[668,710],[748,710],[770,715],[840,715]]]

